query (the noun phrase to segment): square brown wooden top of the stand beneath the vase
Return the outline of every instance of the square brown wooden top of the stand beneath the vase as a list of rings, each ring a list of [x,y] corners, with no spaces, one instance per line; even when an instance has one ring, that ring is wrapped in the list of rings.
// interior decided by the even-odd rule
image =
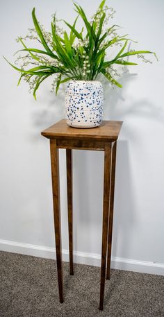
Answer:
[[[41,132],[48,139],[101,139],[116,140],[120,133],[123,121],[102,121],[96,128],[73,128],[67,126],[62,119]]]

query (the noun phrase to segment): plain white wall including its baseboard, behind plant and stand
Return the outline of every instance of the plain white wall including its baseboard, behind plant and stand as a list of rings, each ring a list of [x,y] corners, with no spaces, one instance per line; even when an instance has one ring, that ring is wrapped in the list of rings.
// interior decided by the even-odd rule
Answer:
[[[99,0],[79,1],[92,15]],[[109,1],[107,1],[109,3]],[[138,40],[136,49],[156,51],[159,62],[142,62],[124,75],[123,88],[104,85],[104,119],[124,121],[117,150],[113,267],[148,273],[164,272],[164,107],[162,0],[110,1],[115,22]],[[1,1],[1,55],[14,60],[17,35],[33,26],[35,6],[49,27],[51,13],[72,22],[72,1]],[[19,74],[1,58],[0,106],[0,239],[1,250],[54,256],[49,141],[40,131],[65,116],[64,92],[51,94],[49,82],[38,101]],[[74,250],[76,261],[99,265],[103,153],[74,151]],[[63,253],[67,259],[65,153],[60,151]]]

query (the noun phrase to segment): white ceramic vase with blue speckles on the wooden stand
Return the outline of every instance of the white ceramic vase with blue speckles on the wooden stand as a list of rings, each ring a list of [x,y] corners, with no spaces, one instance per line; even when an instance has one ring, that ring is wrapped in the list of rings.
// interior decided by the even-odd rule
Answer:
[[[68,126],[94,128],[103,116],[103,87],[97,80],[72,80],[65,92],[65,108]]]

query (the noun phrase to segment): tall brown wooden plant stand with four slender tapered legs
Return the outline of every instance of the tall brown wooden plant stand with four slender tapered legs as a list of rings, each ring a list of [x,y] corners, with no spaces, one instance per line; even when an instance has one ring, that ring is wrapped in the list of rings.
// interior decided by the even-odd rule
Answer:
[[[60,302],[63,302],[63,269],[60,233],[60,189],[59,189],[59,159],[58,149],[66,149],[67,157],[67,206],[69,229],[69,271],[73,269],[73,239],[72,239],[72,150],[104,151],[104,203],[101,245],[101,281],[99,309],[104,306],[105,279],[110,279],[110,257],[113,230],[113,203],[115,189],[115,159],[117,138],[122,121],[103,121],[98,128],[78,129],[67,126],[63,119],[41,132],[50,139],[51,178],[54,202],[54,225],[56,237],[56,262],[58,269],[58,289]],[[106,265],[107,263],[107,265]],[[107,266],[107,268],[106,268]]]

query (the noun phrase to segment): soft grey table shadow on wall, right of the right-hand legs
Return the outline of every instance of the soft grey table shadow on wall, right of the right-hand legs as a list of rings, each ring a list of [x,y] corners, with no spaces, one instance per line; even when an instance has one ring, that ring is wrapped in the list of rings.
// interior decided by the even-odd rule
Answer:
[[[115,174],[115,207],[113,221],[113,256],[118,254],[128,257],[131,249],[131,239],[136,223],[136,200],[133,177],[131,175],[129,142],[118,141],[117,164]],[[127,223],[128,221],[128,223]],[[120,252],[118,252],[118,246]]]

